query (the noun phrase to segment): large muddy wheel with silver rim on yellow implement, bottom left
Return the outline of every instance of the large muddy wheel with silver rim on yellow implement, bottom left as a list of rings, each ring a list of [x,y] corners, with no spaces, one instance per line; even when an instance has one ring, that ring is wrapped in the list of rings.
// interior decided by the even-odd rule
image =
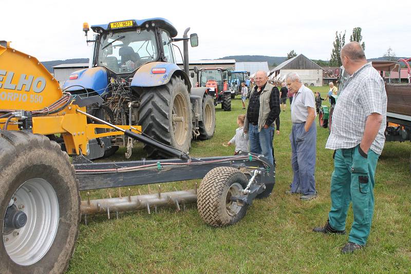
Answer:
[[[0,131],[0,218],[23,211],[22,228],[2,222],[1,273],[62,273],[80,222],[79,185],[67,153],[46,136]],[[10,213],[9,213],[10,215]]]

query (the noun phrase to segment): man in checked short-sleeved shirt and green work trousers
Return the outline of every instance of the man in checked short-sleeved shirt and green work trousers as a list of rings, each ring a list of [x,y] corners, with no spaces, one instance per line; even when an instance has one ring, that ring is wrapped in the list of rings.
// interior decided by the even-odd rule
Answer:
[[[348,243],[341,250],[351,253],[365,246],[374,210],[373,188],[378,157],[384,147],[387,95],[384,80],[357,42],[341,49],[341,62],[350,75],[332,115],[326,144],[334,150],[331,176],[331,210],[324,227],[315,232],[345,234],[350,202],[354,221]]]

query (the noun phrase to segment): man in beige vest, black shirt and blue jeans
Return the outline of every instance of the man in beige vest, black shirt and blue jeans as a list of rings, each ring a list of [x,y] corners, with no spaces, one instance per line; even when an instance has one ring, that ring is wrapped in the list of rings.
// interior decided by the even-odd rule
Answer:
[[[248,133],[250,152],[263,154],[274,165],[274,121],[280,113],[279,90],[267,83],[267,72],[255,72],[255,86],[251,90],[244,133]]]

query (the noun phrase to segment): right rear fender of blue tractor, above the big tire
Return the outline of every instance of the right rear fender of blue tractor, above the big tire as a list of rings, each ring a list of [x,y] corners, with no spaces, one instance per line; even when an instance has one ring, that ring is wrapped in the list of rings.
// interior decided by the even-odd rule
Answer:
[[[165,68],[165,73],[153,73],[153,69],[155,68]],[[173,75],[180,76],[185,81],[185,84],[188,85],[188,92],[190,92],[191,83],[189,77],[179,66],[167,62],[151,62],[142,65],[134,74],[131,86],[152,87],[165,85],[170,81]]]

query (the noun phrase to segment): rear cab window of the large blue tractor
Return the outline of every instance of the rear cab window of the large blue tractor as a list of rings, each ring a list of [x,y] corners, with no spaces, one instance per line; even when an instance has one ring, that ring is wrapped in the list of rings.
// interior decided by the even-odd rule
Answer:
[[[115,32],[101,36],[98,50],[98,65],[116,73],[134,71],[141,65],[157,60],[156,35],[147,29]]]

